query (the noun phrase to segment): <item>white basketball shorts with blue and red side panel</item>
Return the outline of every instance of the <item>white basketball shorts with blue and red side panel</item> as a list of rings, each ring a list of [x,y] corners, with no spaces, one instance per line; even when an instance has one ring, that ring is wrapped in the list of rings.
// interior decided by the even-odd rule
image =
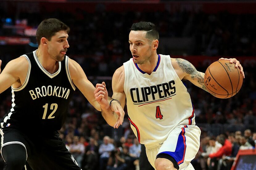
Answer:
[[[195,158],[199,150],[200,134],[201,130],[198,126],[177,126],[165,141],[156,145],[145,145],[150,164],[155,168],[156,156],[165,153],[177,161],[180,170],[193,170],[190,161]]]

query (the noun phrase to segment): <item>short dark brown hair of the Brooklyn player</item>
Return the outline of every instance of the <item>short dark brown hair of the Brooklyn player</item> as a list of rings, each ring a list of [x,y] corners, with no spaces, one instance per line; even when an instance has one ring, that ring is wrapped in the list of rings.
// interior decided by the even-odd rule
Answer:
[[[40,41],[42,37],[47,38],[47,40],[51,41],[52,36],[54,36],[57,32],[64,30],[69,33],[70,29],[68,25],[64,24],[60,20],[56,18],[49,18],[43,20],[37,27],[36,30],[36,41],[38,45],[40,45]]]

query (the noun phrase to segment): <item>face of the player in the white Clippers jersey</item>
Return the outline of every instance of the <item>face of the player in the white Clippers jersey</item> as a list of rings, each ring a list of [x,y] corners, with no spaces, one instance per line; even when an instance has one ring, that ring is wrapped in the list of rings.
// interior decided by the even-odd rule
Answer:
[[[137,64],[146,63],[152,52],[152,41],[146,38],[146,31],[130,31],[129,43],[134,62]]]

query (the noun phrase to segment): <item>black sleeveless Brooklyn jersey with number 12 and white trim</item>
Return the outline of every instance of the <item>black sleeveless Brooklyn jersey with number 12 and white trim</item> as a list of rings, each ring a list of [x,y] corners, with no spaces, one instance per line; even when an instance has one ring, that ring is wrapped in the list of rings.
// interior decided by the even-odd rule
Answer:
[[[29,62],[24,84],[12,88],[12,107],[1,127],[29,131],[59,130],[67,116],[68,103],[75,91],[68,70],[68,56],[59,62],[59,70],[48,73],[35,51],[23,55]]]

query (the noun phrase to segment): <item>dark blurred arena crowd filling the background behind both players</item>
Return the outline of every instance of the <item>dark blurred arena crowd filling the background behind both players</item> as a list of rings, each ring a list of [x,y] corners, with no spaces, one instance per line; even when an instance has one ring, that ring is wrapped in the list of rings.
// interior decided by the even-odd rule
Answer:
[[[0,36],[15,33],[3,29],[8,16],[0,10]],[[90,81],[106,82],[111,92],[111,78],[115,69],[129,60],[129,28],[137,21],[151,21],[159,26],[160,43],[163,37],[192,37],[195,46],[188,55],[208,56],[255,56],[255,15],[203,14],[202,12],[180,11],[175,13],[154,12],[105,12],[94,14],[77,10],[73,14],[62,10],[54,13],[20,13],[19,19],[27,18],[28,25],[37,27],[44,19],[56,17],[70,26],[68,56],[81,64]],[[31,38],[33,41],[33,38]],[[1,50],[13,46],[0,47]],[[26,50],[20,48],[15,53],[0,53],[3,65]],[[161,52],[159,52],[161,53]],[[170,52],[171,54],[171,52]],[[206,68],[198,68],[204,72]],[[254,67],[244,68],[245,79],[242,89],[230,99],[217,99],[207,92],[184,82],[195,107],[196,123],[202,130],[201,147],[192,161],[197,170],[228,170],[239,149],[255,147],[256,140],[256,77]],[[11,107],[10,89],[0,95],[0,118]],[[125,109],[126,111],[126,109]],[[108,126],[101,113],[95,110],[85,97],[76,91],[68,110],[66,123],[60,136],[77,163],[85,170],[138,170],[141,145],[134,136],[126,111],[123,125],[118,129]],[[217,134],[205,129],[205,125],[227,124],[229,131]],[[242,131],[233,127],[241,126]],[[3,161],[3,160],[2,160]]]

